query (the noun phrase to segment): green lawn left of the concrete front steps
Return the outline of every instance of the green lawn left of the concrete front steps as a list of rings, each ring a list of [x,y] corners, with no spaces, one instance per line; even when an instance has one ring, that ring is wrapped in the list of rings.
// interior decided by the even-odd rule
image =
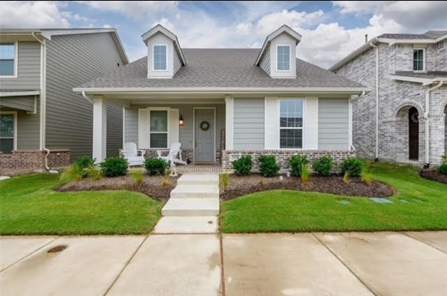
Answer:
[[[142,193],[52,191],[58,178],[31,174],[0,181],[0,234],[140,234],[161,216],[163,203]]]

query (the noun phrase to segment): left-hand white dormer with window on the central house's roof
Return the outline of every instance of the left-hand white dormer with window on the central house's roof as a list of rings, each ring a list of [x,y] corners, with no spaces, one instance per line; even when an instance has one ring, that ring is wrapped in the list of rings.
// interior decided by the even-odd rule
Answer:
[[[147,45],[147,78],[172,78],[186,65],[177,36],[161,24],[142,34],[142,40]]]

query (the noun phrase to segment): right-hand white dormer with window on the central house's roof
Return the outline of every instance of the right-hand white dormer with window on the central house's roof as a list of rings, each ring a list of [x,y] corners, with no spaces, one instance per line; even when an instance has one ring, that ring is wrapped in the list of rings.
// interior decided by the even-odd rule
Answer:
[[[296,46],[300,40],[300,34],[283,24],[265,38],[256,66],[272,78],[296,78]]]

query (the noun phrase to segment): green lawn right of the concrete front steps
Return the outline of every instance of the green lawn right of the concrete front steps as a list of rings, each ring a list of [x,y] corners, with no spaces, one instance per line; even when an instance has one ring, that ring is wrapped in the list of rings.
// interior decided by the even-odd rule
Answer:
[[[222,232],[447,230],[447,185],[417,169],[373,163],[373,177],[391,184],[392,204],[303,191],[264,191],[221,203]],[[350,205],[342,205],[349,200]]]

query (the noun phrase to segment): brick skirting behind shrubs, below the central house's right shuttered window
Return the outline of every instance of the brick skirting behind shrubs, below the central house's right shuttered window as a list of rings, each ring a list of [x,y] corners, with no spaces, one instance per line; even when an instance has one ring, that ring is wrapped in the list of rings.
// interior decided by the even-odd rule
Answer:
[[[288,159],[291,156],[300,154],[306,155],[310,161],[310,164],[314,163],[314,160],[320,156],[329,155],[334,158],[336,165],[342,163],[348,157],[355,157],[356,151],[349,150],[253,150],[253,151],[242,151],[242,150],[224,150],[223,151],[223,161],[222,167],[225,170],[230,170],[233,168],[232,162],[235,161],[240,156],[251,155],[253,159],[253,170],[259,170],[258,156],[261,154],[274,155],[277,158],[277,163],[281,165],[281,170],[288,170],[290,165],[288,165]]]

